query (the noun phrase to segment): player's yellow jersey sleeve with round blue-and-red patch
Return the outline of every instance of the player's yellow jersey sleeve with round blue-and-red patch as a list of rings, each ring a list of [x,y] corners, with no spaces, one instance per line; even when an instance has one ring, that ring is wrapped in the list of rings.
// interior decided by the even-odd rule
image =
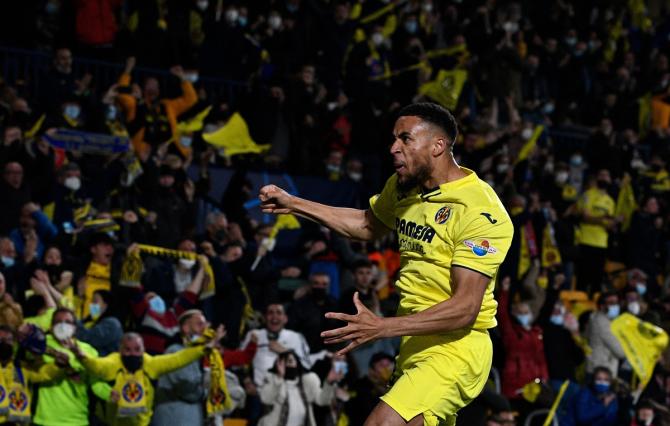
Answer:
[[[474,211],[463,217],[454,241],[451,266],[493,278],[512,243],[514,226],[505,212]]]

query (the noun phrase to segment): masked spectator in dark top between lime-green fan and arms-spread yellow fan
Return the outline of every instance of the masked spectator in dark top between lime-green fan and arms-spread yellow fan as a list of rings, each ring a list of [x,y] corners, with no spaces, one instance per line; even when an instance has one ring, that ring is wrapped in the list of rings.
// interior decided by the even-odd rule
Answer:
[[[100,356],[118,351],[123,335],[121,322],[113,316],[113,304],[110,291],[95,291],[88,305],[89,316],[77,324],[77,339],[91,345]]]

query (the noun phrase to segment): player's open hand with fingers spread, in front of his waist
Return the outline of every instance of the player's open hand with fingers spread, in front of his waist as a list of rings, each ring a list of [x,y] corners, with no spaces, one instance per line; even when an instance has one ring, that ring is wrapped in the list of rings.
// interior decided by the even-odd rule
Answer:
[[[354,293],[354,305],[356,306],[356,315],[347,315],[336,312],[328,312],[326,314],[326,318],[348,323],[345,327],[321,333],[321,337],[323,337],[324,342],[327,345],[346,341],[350,342],[344,349],[338,351],[336,356],[344,355],[367,342],[385,337],[383,335],[384,319],[378,317],[363,305],[358,297],[358,292]]]

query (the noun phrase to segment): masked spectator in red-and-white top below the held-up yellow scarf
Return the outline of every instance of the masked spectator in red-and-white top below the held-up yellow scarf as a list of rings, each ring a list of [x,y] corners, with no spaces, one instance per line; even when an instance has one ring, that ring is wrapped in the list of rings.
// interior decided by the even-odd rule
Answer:
[[[179,333],[177,318],[184,311],[193,309],[205,279],[202,266],[207,259],[199,257],[200,267],[193,280],[179,293],[172,306],[168,306],[160,295],[154,292],[144,293],[138,290],[131,301],[133,315],[139,322],[138,331],[142,335],[146,351],[149,354],[161,354],[168,342]]]

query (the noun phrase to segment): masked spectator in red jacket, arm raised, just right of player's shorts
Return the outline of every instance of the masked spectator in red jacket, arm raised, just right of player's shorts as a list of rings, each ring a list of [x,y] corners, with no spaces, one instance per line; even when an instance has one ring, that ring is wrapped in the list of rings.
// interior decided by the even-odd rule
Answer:
[[[510,400],[521,398],[521,388],[536,379],[549,378],[544,355],[542,329],[533,325],[533,314],[527,303],[518,302],[509,311],[510,281],[502,282],[498,301],[498,321],[505,347],[502,392]]]

